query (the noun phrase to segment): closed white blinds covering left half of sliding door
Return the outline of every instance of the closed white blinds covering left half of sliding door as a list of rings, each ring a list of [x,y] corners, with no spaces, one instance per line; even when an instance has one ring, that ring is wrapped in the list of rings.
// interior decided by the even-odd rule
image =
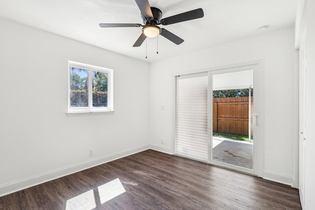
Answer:
[[[208,160],[208,76],[177,77],[175,153]]]

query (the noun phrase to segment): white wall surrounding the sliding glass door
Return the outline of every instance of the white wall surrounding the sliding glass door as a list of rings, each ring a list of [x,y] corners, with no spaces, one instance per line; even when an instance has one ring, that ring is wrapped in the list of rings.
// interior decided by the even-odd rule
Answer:
[[[153,62],[150,67],[150,142],[173,152],[174,74],[264,60],[259,107],[259,141],[264,152],[261,176],[292,185],[294,177],[294,29],[261,34],[245,40]],[[165,109],[161,110],[164,104]],[[160,139],[164,138],[164,144]],[[297,149],[297,148],[296,148]]]

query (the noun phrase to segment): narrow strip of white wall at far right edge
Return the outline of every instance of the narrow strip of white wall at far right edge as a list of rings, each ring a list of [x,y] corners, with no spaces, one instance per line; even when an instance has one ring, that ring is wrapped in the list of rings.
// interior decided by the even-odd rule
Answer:
[[[306,41],[306,80],[305,80],[305,208],[315,207],[315,1],[307,1],[307,41]]]

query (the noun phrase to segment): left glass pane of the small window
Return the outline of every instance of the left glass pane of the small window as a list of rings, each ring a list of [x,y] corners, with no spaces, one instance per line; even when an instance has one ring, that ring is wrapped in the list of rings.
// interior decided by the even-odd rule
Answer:
[[[70,106],[88,107],[89,70],[75,67],[70,70]]]

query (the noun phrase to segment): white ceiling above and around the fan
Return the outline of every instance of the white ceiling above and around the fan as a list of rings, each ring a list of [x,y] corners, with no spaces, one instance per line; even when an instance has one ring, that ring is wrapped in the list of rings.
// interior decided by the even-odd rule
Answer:
[[[257,35],[257,28],[268,31],[294,26],[297,0],[149,0],[163,18],[197,8],[201,19],[163,28],[183,38],[176,45],[162,36],[132,47],[141,28],[100,28],[99,23],[142,24],[134,0],[0,0],[0,17],[50,31],[106,50],[148,62],[186,54]]]

